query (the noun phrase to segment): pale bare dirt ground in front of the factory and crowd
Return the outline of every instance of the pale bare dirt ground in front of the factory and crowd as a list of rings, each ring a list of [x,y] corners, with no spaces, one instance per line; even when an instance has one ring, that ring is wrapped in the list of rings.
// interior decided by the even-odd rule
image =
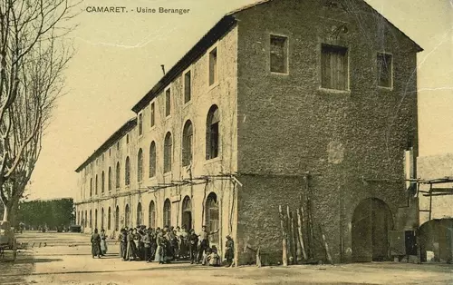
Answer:
[[[16,264],[0,263],[0,284],[453,284],[451,265],[389,262],[260,269],[159,265],[121,261],[113,242],[106,258],[92,259],[89,237],[82,234],[26,233],[20,238],[32,241],[30,245],[34,242],[34,248],[20,252]]]

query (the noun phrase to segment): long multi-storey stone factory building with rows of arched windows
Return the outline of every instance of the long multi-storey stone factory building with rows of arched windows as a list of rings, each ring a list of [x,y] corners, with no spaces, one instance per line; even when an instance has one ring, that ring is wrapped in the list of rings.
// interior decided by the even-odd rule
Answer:
[[[303,205],[314,256],[322,231],[334,261],[386,259],[389,231],[417,227],[404,179],[416,173],[420,51],[361,0],[225,15],[77,168],[77,221],[207,224],[220,251],[234,238],[239,263],[258,247],[276,262],[279,205]]]

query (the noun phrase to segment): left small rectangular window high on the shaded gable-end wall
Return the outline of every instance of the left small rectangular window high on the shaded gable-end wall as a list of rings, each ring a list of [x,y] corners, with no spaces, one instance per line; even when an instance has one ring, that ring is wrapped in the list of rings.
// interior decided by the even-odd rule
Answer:
[[[276,74],[288,73],[288,38],[271,34],[271,72]]]

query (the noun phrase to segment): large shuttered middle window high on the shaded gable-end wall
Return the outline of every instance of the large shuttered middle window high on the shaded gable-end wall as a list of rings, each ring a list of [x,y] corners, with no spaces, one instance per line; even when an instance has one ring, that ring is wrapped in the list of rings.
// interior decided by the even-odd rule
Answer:
[[[348,90],[348,49],[329,44],[322,45],[321,86],[335,90]]]

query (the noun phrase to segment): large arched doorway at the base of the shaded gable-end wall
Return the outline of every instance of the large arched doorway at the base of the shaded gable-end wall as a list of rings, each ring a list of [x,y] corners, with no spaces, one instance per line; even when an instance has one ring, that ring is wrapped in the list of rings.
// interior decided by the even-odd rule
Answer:
[[[384,201],[376,198],[361,201],[352,216],[352,260],[389,260],[389,231],[392,229],[393,218]]]

